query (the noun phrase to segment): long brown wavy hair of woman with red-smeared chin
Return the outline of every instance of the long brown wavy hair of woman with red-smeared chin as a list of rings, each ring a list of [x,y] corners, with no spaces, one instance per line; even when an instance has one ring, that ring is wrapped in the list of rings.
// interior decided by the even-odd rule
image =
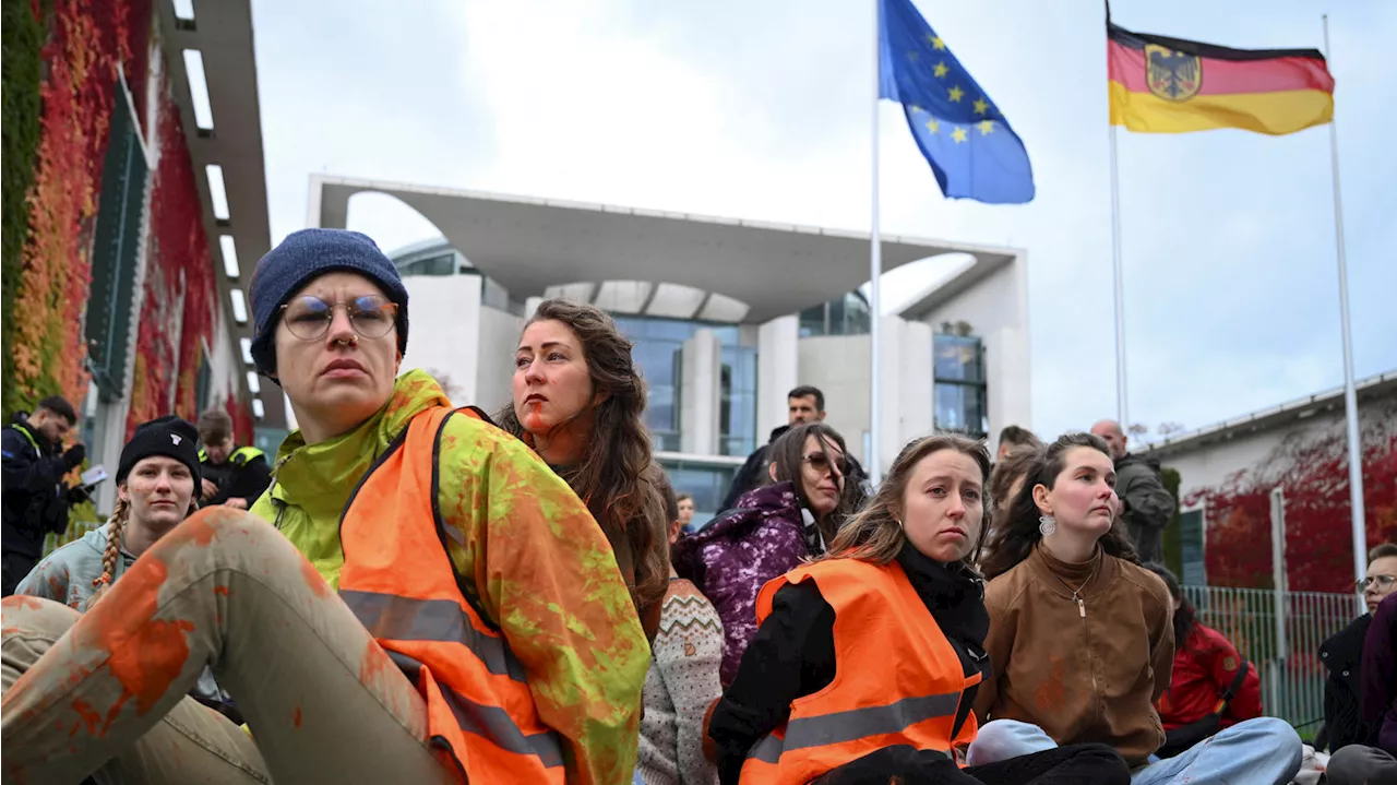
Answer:
[[[606,394],[592,409],[592,432],[583,461],[559,471],[606,534],[622,570],[630,563],[631,601],[644,617],[645,609],[664,599],[669,585],[669,527],[643,419],[645,383],[631,359],[633,344],[610,316],[585,303],[543,300],[524,328],[539,321],[560,321],[577,335],[592,388]],[[513,405],[502,409],[495,422],[535,447]]]

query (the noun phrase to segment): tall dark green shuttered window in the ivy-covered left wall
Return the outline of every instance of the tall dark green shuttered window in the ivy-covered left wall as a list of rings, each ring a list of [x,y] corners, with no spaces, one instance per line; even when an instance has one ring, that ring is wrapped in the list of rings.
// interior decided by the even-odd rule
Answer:
[[[116,103],[102,165],[102,194],[92,237],[92,289],[85,317],[92,379],[103,401],[120,399],[126,392],[131,307],[140,263],[141,208],[148,173],[145,152],[141,149],[122,81],[117,81]]]

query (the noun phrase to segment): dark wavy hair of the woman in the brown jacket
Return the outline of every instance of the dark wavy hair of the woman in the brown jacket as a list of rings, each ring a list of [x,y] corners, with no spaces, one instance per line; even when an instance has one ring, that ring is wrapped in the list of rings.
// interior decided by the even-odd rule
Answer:
[[[1034,487],[1041,485],[1052,490],[1058,475],[1067,468],[1067,453],[1074,447],[1090,447],[1108,458],[1111,457],[1106,441],[1091,433],[1063,434],[1058,437],[1058,441],[1038,453],[1038,458],[1025,475],[1024,487],[1018,490],[1018,496],[1009,507],[1007,518],[1004,518],[1003,525],[996,527],[995,536],[986,545],[989,555],[981,563],[986,578],[993,580],[1014,568],[1020,562],[1028,559],[1034,546],[1042,541],[1042,534],[1038,531],[1038,518],[1042,513],[1034,500]],[[1106,555],[1134,564],[1140,563],[1119,517],[1112,521],[1111,529],[1101,535],[1099,542]]]

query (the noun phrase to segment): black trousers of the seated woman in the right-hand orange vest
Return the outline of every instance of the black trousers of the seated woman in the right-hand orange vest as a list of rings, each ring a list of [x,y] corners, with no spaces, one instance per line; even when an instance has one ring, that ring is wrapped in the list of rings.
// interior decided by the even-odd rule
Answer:
[[[884,747],[847,763],[816,785],[1130,785],[1130,768],[1106,744],[1069,744],[957,768],[937,751],[909,746]]]

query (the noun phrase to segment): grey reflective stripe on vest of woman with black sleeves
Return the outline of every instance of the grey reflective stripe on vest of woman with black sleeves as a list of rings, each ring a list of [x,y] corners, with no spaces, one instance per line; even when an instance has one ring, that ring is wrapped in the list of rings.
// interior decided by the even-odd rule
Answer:
[[[872,705],[868,708],[821,714],[819,717],[802,717],[792,719],[787,725],[784,740],[775,735],[768,735],[752,746],[747,757],[775,764],[781,760],[781,754],[789,750],[826,747],[863,739],[865,736],[895,733],[918,722],[937,717],[954,717],[960,700],[960,693],[946,693],[942,696],[902,698],[888,705]]]

